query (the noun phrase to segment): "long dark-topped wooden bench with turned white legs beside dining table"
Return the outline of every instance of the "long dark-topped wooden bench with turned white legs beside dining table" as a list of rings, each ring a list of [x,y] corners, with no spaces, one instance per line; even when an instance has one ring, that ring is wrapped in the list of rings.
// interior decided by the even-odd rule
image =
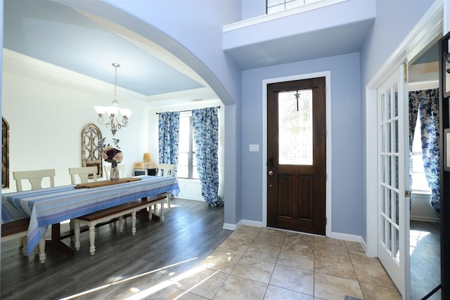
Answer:
[[[122,233],[123,230],[123,219],[124,216],[128,216],[131,214],[131,234],[136,234],[136,212],[140,211],[141,209],[148,209],[148,219],[152,219],[152,209],[150,207],[153,207],[153,213],[156,212],[156,207],[158,204],[160,204],[160,221],[164,222],[164,202],[166,201],[166,196],[156,196],[156,197],[148,197],[143,198],[143,200],[136,200],[133,202],[124,203],[121,205],[118,205],[116,207],[110,207],[108,209],[103,209],[101,211],[95,211],[91,214],[86,214],[84,216],[80,216],[77,219],[75,219],[75,249],[78,251],[80,247],[79,242],[79,233],[80,233],[80,223],[89,226],[89,252],[91,252],[91,255],[94,255],[96,252],[96,246],[95,246],[95,240],[96,240],[96,233],[95,228],[98,223],[104,223],[106,221],[110,221],[112,219],[119,219],[119,231]]]

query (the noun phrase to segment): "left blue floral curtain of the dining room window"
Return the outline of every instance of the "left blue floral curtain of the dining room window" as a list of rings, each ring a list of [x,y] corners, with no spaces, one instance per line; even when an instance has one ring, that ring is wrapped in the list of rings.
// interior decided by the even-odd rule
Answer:
[[[160,112],[159,116],[159,160],[160,164],[178,164],[178,143],[180,128],[179,112]]]

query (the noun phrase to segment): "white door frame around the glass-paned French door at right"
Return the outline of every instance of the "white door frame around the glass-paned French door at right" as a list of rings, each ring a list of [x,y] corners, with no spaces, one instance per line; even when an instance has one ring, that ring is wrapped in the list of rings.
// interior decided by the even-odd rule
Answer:
[[[435,1],[406,36],[400,46],[386,60],[366,86],[366,254],[376,257],[378,242],[378,174],[377,141],[373,138],[377,132],[377,89],[398,70],[402,63],[408,63],[423,51],[435,37],[442,34],[443,2]]]

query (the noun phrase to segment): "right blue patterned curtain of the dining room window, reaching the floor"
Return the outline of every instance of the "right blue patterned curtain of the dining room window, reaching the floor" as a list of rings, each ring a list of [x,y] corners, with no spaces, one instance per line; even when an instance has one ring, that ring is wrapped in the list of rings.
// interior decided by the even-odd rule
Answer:
[[[203,199],[211,207],[221,207],[224,201],[217,195],[219,190],[219,168],[217,148],[219,143],[219,121],[217,107],[192,111],[197,170],[202,184]]]

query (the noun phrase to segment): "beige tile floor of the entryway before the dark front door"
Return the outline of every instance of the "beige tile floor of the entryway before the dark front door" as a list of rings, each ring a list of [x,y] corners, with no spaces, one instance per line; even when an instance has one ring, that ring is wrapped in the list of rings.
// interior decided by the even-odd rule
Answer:
[[[401,299],[361,244],[243,226],[165,299]],[[161,294],[160,294],[161,296]]]

